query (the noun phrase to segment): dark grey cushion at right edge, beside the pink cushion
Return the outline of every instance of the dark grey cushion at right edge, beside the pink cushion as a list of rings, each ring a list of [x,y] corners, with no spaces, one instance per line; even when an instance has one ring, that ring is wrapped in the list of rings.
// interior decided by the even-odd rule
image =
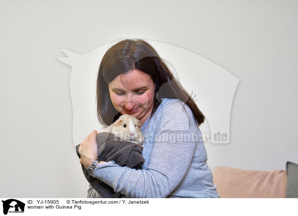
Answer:
[[[298,164],[287,162],[287,191],[286,198],[298,198]]]

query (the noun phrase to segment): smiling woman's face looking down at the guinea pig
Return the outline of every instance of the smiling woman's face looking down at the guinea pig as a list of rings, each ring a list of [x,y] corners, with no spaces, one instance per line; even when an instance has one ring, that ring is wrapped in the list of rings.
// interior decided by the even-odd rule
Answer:
[[[143,125],[151,114],[156,87],[150,75],[132,70],[118,75],[108,86],[115,109],[135,116]]]

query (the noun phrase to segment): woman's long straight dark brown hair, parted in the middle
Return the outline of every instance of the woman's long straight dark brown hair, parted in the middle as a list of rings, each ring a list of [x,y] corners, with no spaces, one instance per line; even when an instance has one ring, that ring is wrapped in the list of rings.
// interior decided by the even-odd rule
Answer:
[[[100,62],[96,84],[97,118],[100,123],[110,125],[121,115],[112,104],[108,83],[133,69],[149,74],[156,84],[150,117],[161,103],[161,98],[169,98],[179,99],[187,104],[198,125],[204,122],[203,113],[157,52],[144,40],[127,39],[112,46]]]

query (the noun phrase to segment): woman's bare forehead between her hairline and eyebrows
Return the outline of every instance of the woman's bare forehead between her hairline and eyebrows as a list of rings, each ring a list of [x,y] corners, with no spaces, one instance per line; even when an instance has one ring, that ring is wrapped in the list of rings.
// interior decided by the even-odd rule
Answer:
[[[141,87],[150,87],[153,81],[149,74],[139,70],[132,70],[125,74],[118,75],[112,82],[109,83],[110,88],[121,88],[129,91]]]

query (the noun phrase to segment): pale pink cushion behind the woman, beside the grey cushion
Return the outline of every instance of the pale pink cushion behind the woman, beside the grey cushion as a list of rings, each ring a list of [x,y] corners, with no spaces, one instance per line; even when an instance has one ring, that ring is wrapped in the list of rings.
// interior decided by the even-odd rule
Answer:
[[[221,198],[285,198],[286,170],[259,171],[216,166],[213,180]]]

